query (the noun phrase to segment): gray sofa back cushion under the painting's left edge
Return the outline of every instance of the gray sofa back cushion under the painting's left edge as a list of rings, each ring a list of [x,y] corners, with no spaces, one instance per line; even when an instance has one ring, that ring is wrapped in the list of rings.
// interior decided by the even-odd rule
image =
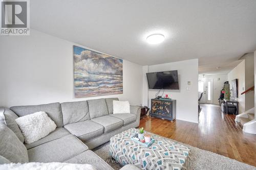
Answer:
[[[90,120],[87,101],[61,103],[63,125]]]

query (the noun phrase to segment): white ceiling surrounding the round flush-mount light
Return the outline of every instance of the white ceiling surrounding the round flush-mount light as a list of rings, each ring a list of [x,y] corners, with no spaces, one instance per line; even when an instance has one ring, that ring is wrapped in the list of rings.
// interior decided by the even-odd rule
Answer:
[[[223,74],[256,50],[255,0],[33,0],[30,8],[32,29],[140,65],[199,58],[200,74]],[[153,33],[165,41],[147,44]]]

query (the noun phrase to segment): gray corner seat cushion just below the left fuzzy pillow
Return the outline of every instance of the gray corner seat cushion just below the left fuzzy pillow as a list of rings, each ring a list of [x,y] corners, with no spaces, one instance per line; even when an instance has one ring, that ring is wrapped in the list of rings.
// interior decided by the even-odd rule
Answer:
[[[40,144],[61,138],[63,136],[70,135],[69,131],[67,131],[65,128],[56,128],[53,132],[51,132],[49,135],[47,135],[44,138],[41,138],[33,143],[25,144],[27,149],[31,149],[33,147],[36,147]]]

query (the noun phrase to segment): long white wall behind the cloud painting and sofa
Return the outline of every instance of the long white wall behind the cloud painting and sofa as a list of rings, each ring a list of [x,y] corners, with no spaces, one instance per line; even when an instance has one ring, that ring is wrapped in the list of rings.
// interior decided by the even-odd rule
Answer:
[[[0,106],[88,99],[73,94],[73,45],[78,44],[35,30],[30,36],[1,36],[0,44]],[[123,94],[90,99],[112,97],[142,103],[142,66],[123,60]]]

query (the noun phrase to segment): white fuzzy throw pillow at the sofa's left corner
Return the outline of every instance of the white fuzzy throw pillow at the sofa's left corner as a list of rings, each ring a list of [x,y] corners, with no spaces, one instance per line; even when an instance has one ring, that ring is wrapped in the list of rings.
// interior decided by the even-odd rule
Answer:
[[[37,141],[56,129],[56,124],[46,112],[36,112],[15,119],[25,143]]]

